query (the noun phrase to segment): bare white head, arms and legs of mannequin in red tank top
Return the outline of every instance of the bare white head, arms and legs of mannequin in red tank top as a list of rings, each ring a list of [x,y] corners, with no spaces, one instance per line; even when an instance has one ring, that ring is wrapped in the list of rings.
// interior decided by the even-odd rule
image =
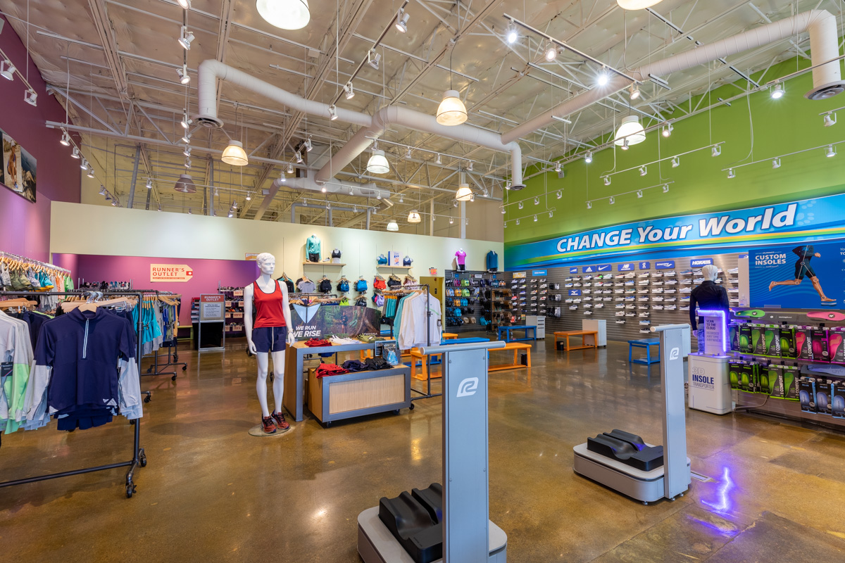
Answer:
[[[273,293],[273,291],[275,291],[275,284],[279,284],[275,281],[275,279],[273,279],[273,272],[275,271],[275,257],[268,252],[263,252],[256,258],[256,262],[261,269],[261,275],[259,279],[255,280],[255,283],[259,285],[259,288],[264,291],[264,293]],[[288,329],[287,345],[292,346],[297,341],[297,338],[294,336],[292,331],[291,306],[287,300],[287,285],[279,284],[279,287],[281,288],[281,293],[283,295],[282,299],[285,311],[285,323]],[[259,362],[259,378],[258,382],[256,382],[255,389],[259,395],[261,416],[266,418],[270,416],[270,411],[267,407],[267,371],[270,362],[270,353],[258,352],[255,349],[255,344],[253,342],[253,298],[253,284],[249,284],[243,288],[243,324],[244,328],[246,328],[249,351],[255,355]],[[272,352],[272,355],[273,370],[275,371],[275,378],[273,380],[273,398],[275,399],[274,412],[281,413],[281,399],[285,389],[285,352]]]

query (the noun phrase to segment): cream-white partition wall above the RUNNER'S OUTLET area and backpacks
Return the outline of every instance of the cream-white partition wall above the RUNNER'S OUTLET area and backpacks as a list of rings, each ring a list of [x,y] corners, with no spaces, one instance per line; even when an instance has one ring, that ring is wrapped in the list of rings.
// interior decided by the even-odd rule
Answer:
[[[457,220],[455,221],[457,223]],[[456,226],[456,225],[455,225]],[[468,229],[473,228],[470,219]],[[428,268],[450,268],[455,251],[466,251],[466,268],[482,270],[487,252],[504,256],[501,241],[473,241],[441,236],[407,235],[377,230],[292,225],[253,219],[113,208],[102,205],[53,202],[50,251],[105,256],[216,258],[243,260],[247,252],[271,252],[276,275],[294,279],[303,272],[305,241],[315,234],[322,241],[322,257],[340,248],[346,263],[335,267],[308,266],[309,277],[326,273],[331,279],[363,275],[372,284],[376,257],[388,251],[413,258],[412,274],[428,275]],[[456,234],[456,233],[455,233]],[[390,273],[389,270],[383,272]]]

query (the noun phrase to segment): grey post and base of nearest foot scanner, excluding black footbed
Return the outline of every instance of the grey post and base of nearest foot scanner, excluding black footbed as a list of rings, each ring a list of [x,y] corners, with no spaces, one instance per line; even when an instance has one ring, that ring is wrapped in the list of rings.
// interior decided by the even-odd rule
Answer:
[[[443,559],[433,563],[505,563],[508,536],[490,522],[488,502],[488,349],[504,342],[426,346],[443,355]],[[379,519],[358,515],[365,563],[414,563]]]

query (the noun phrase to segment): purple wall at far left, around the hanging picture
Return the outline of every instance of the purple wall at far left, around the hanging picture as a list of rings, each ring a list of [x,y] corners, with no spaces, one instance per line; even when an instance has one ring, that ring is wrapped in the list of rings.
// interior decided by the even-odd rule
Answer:
[[[50,202],[79,203],[79,161],[59,144],[62,133],[47,129],[46,121],[63,122],[64,110],[51,95],[35,63],[27,60],[26,47],[8,21],[3,23],[0,48],[21,73],[29,65],[29,81],[38,93],[38,106],[24,101],[25,86],[19,78],[0,80],[0,129],[37,160],[36,203],[30,203],[0,186],[0,250],[47,261],[50,252]],[[79,139],[77,138],[77,143]]]

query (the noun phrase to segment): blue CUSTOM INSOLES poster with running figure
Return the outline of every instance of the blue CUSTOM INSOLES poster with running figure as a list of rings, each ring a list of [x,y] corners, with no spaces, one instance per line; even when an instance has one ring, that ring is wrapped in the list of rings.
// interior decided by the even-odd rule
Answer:
[[[752,307],[845,308],[845,241],[805,241],[749,252]]]

